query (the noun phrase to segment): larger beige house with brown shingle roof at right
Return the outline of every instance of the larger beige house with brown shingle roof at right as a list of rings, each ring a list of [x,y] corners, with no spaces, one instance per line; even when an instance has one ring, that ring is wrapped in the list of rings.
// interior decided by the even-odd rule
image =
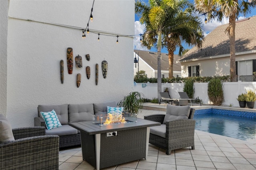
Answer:
[[[193,47],[177,62],[182,77],[230,75],[230,40],[218,26],[205,37],[202,48]],[[236,74],[238,80],[252,81],[256,71],[256,16],[236,22]]]

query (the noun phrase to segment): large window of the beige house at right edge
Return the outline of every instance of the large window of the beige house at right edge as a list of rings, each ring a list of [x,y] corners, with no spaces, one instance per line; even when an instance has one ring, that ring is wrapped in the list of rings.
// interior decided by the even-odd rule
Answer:
[[[256,60],[238,61],[237,72],[238,80],[240,81],[252,81],[252,72],[255,70]]]

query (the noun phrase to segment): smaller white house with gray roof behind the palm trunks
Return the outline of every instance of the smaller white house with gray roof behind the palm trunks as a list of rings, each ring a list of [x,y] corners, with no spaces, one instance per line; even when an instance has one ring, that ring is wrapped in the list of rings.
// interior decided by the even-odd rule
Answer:
[[[135,56],[136,53],[136,56]],[[144,70],[147,74],[148,78],[157,77],[157,53],[151,51],[143,51],[143,50],[136,50],[134,49],[134,57],[138,59],[139,55],[139,68],[138,63],[134,63],[134,75],[138,73],[139,70]],[[168,54],[161,53],[161,74],[162,78],[169,77],[169,61],[168,61]],[[180,57],[178,55],[174,55],[173,61],[173,76],[180,77],[181,76],[181,67],[180,63],[176,63],[176,61]]]

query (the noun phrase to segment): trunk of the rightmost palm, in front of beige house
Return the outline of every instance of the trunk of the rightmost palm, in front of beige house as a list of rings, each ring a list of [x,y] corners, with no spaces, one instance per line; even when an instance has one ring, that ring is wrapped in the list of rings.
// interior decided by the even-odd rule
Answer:
[[[236,49],[235,49],[235,27],[236,27],[236,13],[229,17],[230,23],[230,80],[236,82]]]

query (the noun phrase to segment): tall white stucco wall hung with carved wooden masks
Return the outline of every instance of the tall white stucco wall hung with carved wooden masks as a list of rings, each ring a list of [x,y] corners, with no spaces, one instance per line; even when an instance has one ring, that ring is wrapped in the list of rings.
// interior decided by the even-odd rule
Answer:
[[[10,0],[7,117],[12,127],[34,126],[38,105],[118,102],[133,91],[133,59],[129,57],[134,53],[133,38],[119,37],[116,44],[117,37],[100,36],[98,42],[98,34],[90,33],[82,39],[79,28],[86,28],[92,2]],[[91,31],[134,35],[134,0],[96,0],[92,15]],[[83,61],[82,69],[77,69],[74,64],[73,74],[68,74],[66,64],[68,47],[73,48],[74,60],[79,54]],[[90,61],[85,59],[88,53]],[[64,60],[64,84],[60,81],[61,59]],[[103,60],[108,61],[106,79],[101,73]],[[96,63],[99,64],[98,85],[95,84]],[[91,67],[90,79],[86,78],[86,66]],[[76,87],[77,73],[82,75],[79,88]]]

